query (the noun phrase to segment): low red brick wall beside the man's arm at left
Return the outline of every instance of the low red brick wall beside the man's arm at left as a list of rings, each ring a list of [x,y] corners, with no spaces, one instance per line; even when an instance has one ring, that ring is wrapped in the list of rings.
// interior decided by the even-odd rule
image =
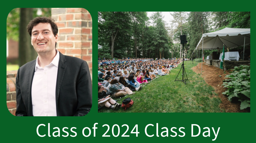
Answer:
[[[7,71],[6,74],[6,104],[9,112],[15,116],[16,112],[16,75],[17,71]]]

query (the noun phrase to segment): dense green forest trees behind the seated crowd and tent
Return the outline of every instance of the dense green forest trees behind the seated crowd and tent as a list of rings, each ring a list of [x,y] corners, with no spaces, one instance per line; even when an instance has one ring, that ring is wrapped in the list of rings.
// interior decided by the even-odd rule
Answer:
[[[174,12],[171,24],[162,12],[98,12],[98,56],[103,58],[181,58],[180,35],[190,58],[203,33],[250,28],[250,12]],[[151,22],[150,22],[151,21]],[[212,50],[205,50],[209,55]]]

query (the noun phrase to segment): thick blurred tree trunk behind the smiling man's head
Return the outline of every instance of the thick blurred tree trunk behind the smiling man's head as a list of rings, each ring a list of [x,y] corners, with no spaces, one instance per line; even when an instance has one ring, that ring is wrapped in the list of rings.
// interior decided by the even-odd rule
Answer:
[[[20,28],[19,28],[19,66],[21,67],[27,62],[37,57],[37,52],[31,45],[31,37],[27,34],[27,24],[33,19],[32,8],[20,9]]]

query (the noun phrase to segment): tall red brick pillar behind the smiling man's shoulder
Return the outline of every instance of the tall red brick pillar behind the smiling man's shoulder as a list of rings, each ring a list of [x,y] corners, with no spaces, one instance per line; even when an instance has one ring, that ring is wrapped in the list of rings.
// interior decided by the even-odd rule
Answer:
[[[92,77],[92,18],[84,8],[52,8],[58,26],[57,49],[85,60]]]

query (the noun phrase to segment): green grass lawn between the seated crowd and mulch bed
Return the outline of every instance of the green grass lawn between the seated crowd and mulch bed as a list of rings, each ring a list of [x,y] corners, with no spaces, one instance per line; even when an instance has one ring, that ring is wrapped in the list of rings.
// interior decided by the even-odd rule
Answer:
[[[136,91],[135,95],[121,96],[121,99],[113,98],[118,103],[122,103],[128,97],[134,101],[134,104],[125,111],[123,108],[113,111],[104,107],[99,112],[221,112],[219,108],[221,99],[216,96],[213,87],[207,85],[199,74],[193,72],[191,68],[196,64],[190,63],[191,61],[184,62],[188,77],[186,85],[182,81],[174,82],[180,71],[180,64],[178,68],[172,69],[169,75],[160,76],[149,82]]]

